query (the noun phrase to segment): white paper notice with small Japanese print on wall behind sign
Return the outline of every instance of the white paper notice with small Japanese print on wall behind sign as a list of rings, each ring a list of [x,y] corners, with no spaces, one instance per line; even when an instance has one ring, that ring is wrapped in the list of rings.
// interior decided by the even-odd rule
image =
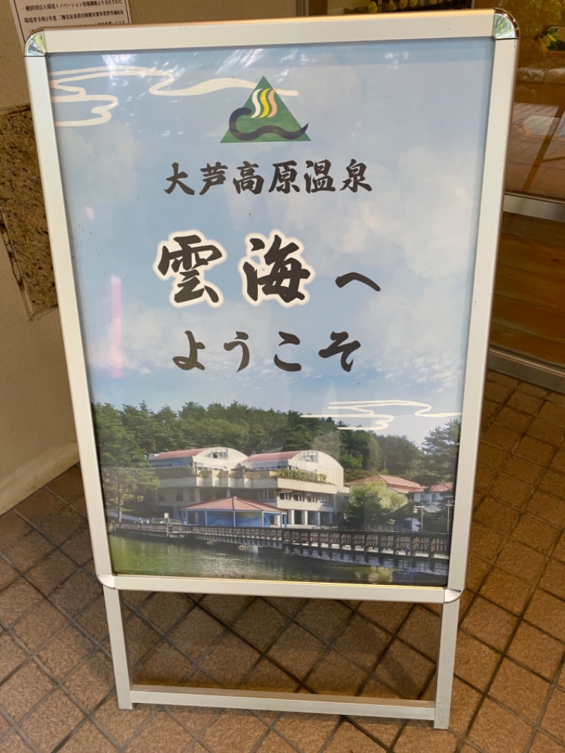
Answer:
[[[127,0],[10,0],[14,23],[23,46],[46,26],[109,26],[130,23]]]

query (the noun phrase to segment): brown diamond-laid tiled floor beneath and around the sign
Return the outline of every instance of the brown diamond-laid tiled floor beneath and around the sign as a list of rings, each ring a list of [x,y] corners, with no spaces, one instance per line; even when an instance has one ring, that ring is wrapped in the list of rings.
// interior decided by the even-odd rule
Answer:
[[[557,753],[565,748],[565,396],[490,373],[450,730],[118,711],[76,468],[0,520],[0,751]],[[139,681],[431,697],[422,605],[127,594]]]

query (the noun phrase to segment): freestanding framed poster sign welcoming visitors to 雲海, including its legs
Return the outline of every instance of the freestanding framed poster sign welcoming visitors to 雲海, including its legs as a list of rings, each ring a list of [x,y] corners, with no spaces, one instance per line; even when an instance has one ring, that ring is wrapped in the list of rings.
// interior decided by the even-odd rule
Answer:
[[[29,39],[123,708],[447,724],[517,46],[502,11]],[[124,589],[441,604],[435,702],[131,684]]]

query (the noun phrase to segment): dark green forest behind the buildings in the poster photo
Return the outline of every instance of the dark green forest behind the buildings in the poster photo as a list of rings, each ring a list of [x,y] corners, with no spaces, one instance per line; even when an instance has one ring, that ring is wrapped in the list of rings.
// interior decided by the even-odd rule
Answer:
[[[140,481],[133,493],[139,495],[144,485],[154,488],[150,453],[214,445],[234,447],[246,455],[319,450],[341,463],[347,481],[383,473],[430,486],[454,480],[460,434],[460,422],[450,421],[429,431],[417,447],[407,437],[340,431],[345,424],[333,419],[302,418],[295,411],[281,413],[237,402],[208,407],[190,402],[180,410],[165,406],[156,412],[145,403],[122,410],[97,403],[93,418],[102,468],[136,468]],[[115,486],[112,497],[119,495],[119,483]]]

